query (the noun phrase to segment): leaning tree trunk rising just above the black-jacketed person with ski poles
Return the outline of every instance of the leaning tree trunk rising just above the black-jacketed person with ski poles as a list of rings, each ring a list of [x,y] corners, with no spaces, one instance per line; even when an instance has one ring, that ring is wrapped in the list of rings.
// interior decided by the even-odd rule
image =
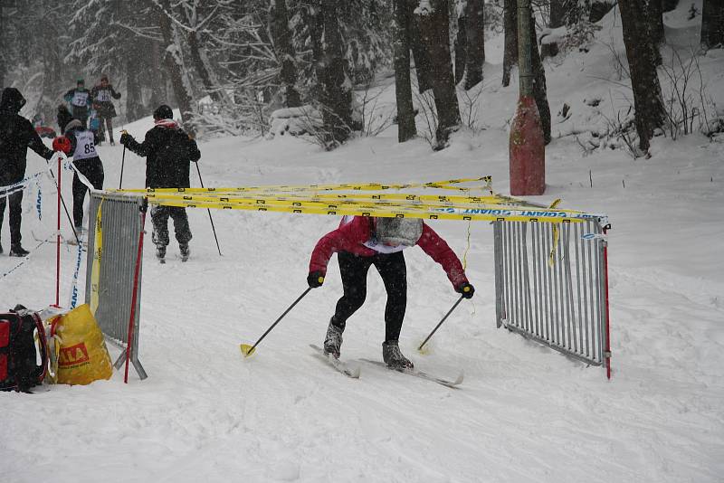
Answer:
[[[170,14],[171,8],[169,1],[170,0],[161,0],[161,6]],[[176,102],[178,102],[178,108],[181,110],[181,118],[185,121],[186,131],[193,136],[194,129],[190,126],[190,122],[187,121],[191,119],[194,112],[194,98],[191,93],[191,83],[188,81],[186,72],[184,71],[184,61],[180,52],[180,35],[176,32],[176,26],[171,24],[171,20],[164,12],[161,12],[159,15],[159,26],[161,28],[161,34],[164,37],[164,44],[167,45],[164,63],[166,64],[168,76],[171,78],[171,85],[176,95]]]

